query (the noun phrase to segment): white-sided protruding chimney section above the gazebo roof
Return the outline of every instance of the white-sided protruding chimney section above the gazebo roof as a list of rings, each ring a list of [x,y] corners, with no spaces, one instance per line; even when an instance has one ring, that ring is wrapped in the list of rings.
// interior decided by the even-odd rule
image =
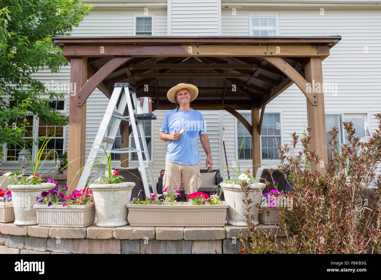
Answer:
[[[220,0],[171,0],[172,36],[218,35],[218,13]],[[169,3],[169,2],[168,2]]]

